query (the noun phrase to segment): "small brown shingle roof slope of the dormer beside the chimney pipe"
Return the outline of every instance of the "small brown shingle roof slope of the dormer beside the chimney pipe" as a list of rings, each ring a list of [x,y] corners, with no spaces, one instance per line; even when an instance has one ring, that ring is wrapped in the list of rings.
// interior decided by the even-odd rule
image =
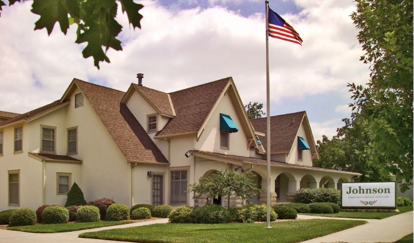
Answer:
[[[133,86],[138,89],[146,97],[146,99],[152,103],[156,109],[158,109],[159,112],[168,116],[174,116],[167,93],[136,84],[133,84]]]

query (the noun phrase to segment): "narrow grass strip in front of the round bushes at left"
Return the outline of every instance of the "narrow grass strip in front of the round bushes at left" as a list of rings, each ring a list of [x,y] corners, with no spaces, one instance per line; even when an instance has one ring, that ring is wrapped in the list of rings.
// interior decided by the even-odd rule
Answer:
[[[133,221],[101,221],[101,222],[85,222],[85,223],[69,223],[69,224],[37,224],[34,226],[15,226],[7,227],[10,230],[24,231],[30,233],[57,233],[68,232],[90,228],[100,228],[106,226],[117,226],[134,223]]]

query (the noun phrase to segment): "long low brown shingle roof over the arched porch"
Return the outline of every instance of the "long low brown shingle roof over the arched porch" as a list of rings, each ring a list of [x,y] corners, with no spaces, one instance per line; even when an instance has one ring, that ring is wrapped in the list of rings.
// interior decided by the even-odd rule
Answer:
[[[260,159],[260,158],[254,158],[254,157],[244,157],[244,156],[235,156],[235,155],[224,155],[214,152],[206,152],[206,151],[199,151],[199,150],[193,150],[192,152],[209,155],[209,156],[216,156],[217,158],[224,158],[224,159],[230,159],[235,161],[240,161],[243,163],[255,163],[255,164],[267,164],[266,159]],[[196,154],[197,156],[197,154]],[[306,169],[306,170],[313,170],[313,171],[326,171],[326,172],[336,172],[336,173],[343,173],[343,174],[355,174],[360,175],[360,173],[355,172],[345,172],[345,171],[337,171],[337,170],[331,170],[331,169],[324,169],[319,167],[312,167],[312,166],[305,166],[305,165],[297,165],[297,164],[289,164],[284,162],[278,162],[278,161],[270,161],[271,165],[274,166],[280,166],[280,167],[293,167],[293,168],[300,168],[300,169]]]

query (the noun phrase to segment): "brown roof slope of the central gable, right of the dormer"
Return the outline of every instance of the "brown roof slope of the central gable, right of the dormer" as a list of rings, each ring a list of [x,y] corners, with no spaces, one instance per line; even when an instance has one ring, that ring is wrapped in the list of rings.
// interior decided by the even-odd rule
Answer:
[[[156,137],[197,133],[230,77],[169,93],[176,116]]]

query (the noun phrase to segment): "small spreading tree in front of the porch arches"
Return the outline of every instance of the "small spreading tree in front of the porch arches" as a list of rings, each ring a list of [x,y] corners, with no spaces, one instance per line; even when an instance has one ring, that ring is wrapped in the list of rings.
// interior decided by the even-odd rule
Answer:
[[[251,171],[245,171],[237,174],[234,170],[216,172],[208,177],[201,177],[200,183],[189,185],[188,191],[194,192],[194,198],[201,194],[209,197],[218,198],[218,196],[227,196],[227,208],[230,208],[230,195],[246,199],[264,191],[254,184],[256,175]]]

